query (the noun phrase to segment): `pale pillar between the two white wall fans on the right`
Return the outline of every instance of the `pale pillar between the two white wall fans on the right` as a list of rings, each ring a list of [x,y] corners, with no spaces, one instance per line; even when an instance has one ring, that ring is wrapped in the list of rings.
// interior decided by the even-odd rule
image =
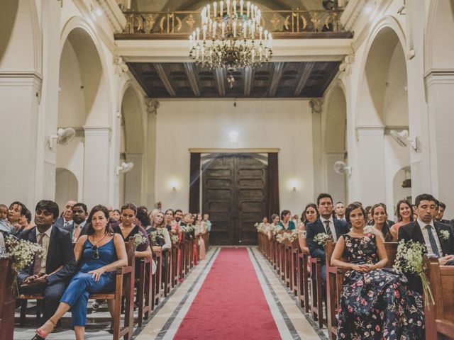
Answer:
[[[384,128],[357,127],[359,200],[364,206],[384,202]]]

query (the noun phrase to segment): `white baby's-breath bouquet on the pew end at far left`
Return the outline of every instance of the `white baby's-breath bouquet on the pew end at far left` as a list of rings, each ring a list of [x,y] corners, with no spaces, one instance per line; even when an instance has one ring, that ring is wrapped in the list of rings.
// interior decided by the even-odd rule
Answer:
[[[38,253],[40,256],[43,256],[44,249],[37,243],[29,242],[25,239],[17,239],[13,236],[6,237],[5,245],[6,253],[10,254],[13,259],[13,264],[11,266],[11,269],[15,274],[13,289],[15,288],[18,293],[17,274],[31,265],[33,259],[35,259],[35,254]]]

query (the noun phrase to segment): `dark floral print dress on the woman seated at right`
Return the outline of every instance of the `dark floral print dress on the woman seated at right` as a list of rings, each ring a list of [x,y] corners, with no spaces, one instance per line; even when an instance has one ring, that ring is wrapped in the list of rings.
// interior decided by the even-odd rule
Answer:
[[[350,263],[379,261],[375,234],[343,235],[343,257]],[[409,290],[402,273],[390,268],[369,273],[345,273],[339,301],[339,339],[424,339],[423,303],[419,293]]]

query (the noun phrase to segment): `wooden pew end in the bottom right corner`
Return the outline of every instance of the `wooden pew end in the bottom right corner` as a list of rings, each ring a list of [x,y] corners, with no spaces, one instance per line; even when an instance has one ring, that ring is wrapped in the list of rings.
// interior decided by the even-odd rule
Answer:
[[[426,276],[433,300],[429,299],[426,314],[426,340],[454,339],[454,266],[440,266],[435,256],[424,256]]]

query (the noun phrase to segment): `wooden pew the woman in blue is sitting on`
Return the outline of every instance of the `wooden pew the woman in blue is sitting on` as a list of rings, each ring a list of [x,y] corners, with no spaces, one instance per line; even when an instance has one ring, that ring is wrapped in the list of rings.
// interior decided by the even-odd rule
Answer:
[[[132,339],[134,331],[134,273],[135,273],[135,255],[134,255],[134,237],[130,237],[125,242],[126,254],[128,254],[128,266],[118,268],[116,271],[115,290],[109,293],[90,294],[90,299],[96,300],[114,300],[115,308],[112,319],[114,321],[114,336],[112,339],[118,340]],[[121,327],[121,300],[125,299],[125,317],[124,324]]]

